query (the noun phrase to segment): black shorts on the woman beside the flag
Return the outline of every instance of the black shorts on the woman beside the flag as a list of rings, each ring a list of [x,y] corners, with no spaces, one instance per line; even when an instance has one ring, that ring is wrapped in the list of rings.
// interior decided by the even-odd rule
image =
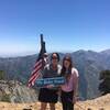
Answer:
[[[41,88],[38,94],[38,101],[56,103],[58,100],[57,90]]]

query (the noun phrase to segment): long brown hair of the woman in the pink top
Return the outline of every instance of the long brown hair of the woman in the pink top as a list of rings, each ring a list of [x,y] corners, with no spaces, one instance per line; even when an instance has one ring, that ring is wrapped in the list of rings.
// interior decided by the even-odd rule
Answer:
[[[70,63],[68,69],[66,70],[66,67],[64,66],[64,62],[68,61]],[[73,61],[70,55],[66,55],[63,58],[63,68],[61,75],[64,76],[66,79],[72,75],[72,68],[73,68]]]

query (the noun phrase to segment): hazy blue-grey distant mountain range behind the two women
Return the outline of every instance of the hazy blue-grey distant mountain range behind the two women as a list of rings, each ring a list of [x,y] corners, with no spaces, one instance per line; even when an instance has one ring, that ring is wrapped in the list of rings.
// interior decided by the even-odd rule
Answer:
[[[59,53],[61,57],[65,53]],[[91,99],[99,96],[99,74],[103,69],[110,69],[110,50],[103,52],[77,51],[70,53],[74,65],[79,72],[79,96],[82,99]],[[18,79],[28,82],[37,55],[23,57],[0,58],[0,70],[4,70],[7,79]]]

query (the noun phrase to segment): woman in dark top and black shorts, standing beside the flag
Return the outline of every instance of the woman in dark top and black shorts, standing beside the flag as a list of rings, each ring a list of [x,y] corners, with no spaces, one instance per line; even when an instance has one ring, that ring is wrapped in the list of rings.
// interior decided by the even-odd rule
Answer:
[[[59,55],[53,53],[51,55],[51,64],[46,65],[43,73],[43,78],[53,78],[58,77],[62,70],[61,65],[58,65]],[[57,95],[58,88],[48,85],[44,88],[41,88],[38,100],[41,101],[41,110],[46,110],[47,103],[50,103],[51,110],[55,110],[55,103],[58,100]]]

